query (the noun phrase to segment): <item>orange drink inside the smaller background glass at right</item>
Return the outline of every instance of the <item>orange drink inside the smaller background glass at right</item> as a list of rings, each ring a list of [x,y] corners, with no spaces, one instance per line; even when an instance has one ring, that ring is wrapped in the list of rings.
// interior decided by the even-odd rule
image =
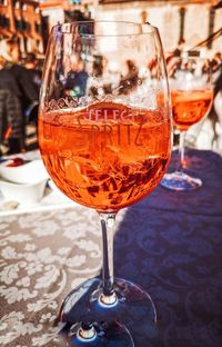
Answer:
[[[173,123],[181,130],[188,130],[200,121],[210,110],[212,102],[211,90],[171,91]]]

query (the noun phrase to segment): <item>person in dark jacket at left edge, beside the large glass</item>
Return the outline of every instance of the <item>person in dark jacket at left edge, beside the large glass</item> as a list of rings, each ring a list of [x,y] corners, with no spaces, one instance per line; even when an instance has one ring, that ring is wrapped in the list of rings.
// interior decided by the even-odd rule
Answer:
[[[1,132],[9,143],[9,152],[20,152],[26,149],[26,110],[33,102],[38,102],[39,97],[29,71],[18,63],[19,58],[16,38],[0,42]]]

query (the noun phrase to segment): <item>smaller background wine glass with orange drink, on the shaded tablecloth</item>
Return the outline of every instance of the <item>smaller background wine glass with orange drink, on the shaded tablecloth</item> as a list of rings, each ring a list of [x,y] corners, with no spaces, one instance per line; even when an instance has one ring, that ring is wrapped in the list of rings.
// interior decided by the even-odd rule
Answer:
[[[208,116],[212,99],[211,67],[200,52],[183,52],[169,67],[173,125],[180,133],[180,161],[174,172],[165,174],[161,185],[168,189],[190,191],[202,186],[200,178],[184,172],[186,130]]]

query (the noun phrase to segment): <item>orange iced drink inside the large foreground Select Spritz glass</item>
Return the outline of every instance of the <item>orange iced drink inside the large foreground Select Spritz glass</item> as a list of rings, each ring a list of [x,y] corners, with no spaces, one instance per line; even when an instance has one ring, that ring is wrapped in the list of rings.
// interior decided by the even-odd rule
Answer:
[[[95,103],[79,111],[40,115],[44,165],[71,199],[100,211],[134,204],[163,177],[171,147],[163,111]]]

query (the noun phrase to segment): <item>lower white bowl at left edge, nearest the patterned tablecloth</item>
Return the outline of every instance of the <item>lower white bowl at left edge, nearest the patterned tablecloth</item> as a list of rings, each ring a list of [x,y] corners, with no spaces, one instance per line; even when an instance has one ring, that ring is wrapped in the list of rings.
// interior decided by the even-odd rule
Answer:
[[[33,206],[43,198],[48,179],[33,184],[14,184],[0,179],[0,190],[6,201],[18,201],[19,207]]]

